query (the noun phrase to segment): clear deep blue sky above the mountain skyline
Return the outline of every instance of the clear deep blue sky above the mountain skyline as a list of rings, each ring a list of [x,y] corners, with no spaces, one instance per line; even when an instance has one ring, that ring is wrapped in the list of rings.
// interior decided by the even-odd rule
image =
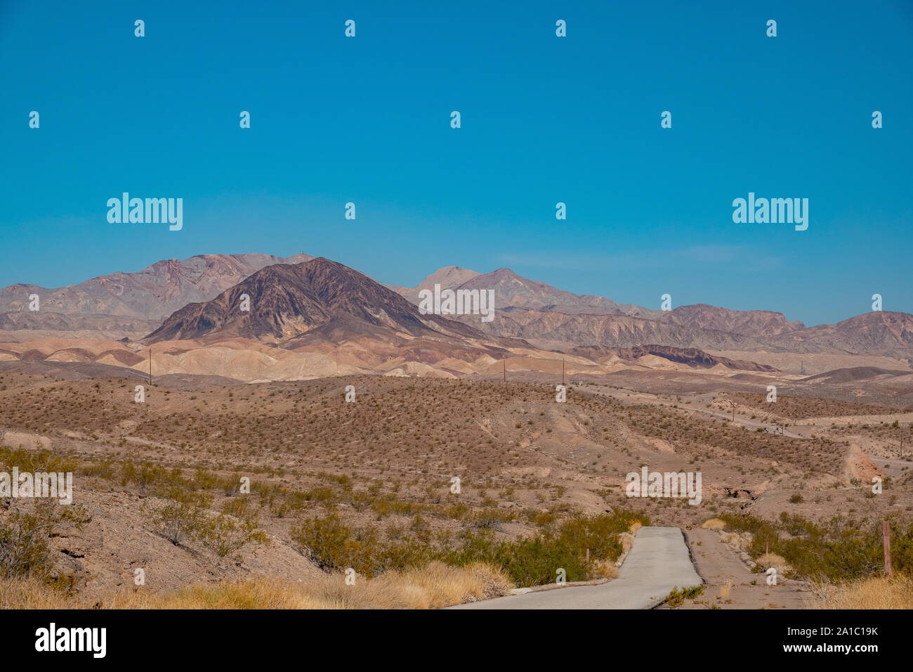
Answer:
[[[0,2],[0,286],[304,251],[410,286],[507,266],[651,308],[913,312],[906,0],[270,5]],[[124,191],[184,198],[184,229],[110,224]],[[733,223],[750,191],[807,197],[808,230]]]

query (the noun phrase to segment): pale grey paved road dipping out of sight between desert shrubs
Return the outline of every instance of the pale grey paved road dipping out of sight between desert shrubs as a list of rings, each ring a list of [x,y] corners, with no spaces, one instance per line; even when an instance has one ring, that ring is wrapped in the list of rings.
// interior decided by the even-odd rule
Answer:
[[[557,569],[557,568],[555,568]],[[598,586],[527,592],[452,609],[649,609],[675,588],[702,581],[680,528],[640,528],[618,578]]]

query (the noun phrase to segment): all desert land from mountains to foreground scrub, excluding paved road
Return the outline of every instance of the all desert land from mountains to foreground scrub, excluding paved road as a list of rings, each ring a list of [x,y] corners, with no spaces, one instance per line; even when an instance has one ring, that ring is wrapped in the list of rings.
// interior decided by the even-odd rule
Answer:
[[[493,319],[419,310],[435,285]],[[0,463],[75,482],[0,499],[0,605],[447,606],[611,583],[645,526],[683,529],[703,581],[666,607],[834,605],[879,581],[884,519],[913,566],[911,430],[904,313],[806,327],[453,266],[407,288],[306,254],[16,284]],[[699,502],[629,496],[642,470],[700,474]]]

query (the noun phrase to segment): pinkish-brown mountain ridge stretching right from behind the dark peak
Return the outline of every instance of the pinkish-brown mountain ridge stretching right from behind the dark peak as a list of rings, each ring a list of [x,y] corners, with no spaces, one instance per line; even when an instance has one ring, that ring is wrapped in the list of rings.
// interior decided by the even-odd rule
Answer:
[[[398,291],[417,303],[418,290],[446,278],[452,289],[493,289],[495,319],[477,324],[473,315],[453,319],[492,336],[527,339],[540,347],[669,347],[771,352],[841,352],[913,356],[913,315],[873,312],[837,325],[806,327],[768,310],[737,311],[708,304],[651,310],[612,299],[580,295],[531,281],[509,269],[471,273],[462,283],[447,266],[415,288]],[[465,271],[465,270],[464,270]],[[454,286],[455,285],[455,286]],[[442,283],[442,287],[443,287]]]

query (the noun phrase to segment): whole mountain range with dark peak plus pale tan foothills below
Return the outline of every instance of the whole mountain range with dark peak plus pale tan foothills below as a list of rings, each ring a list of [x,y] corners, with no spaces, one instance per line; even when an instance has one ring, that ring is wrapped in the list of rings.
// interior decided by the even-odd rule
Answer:
[[[417,306],[419,293],[436,284],[493,292],[494,319],[423,315]],[[40,297],[37,313],[28,310],[32,293]],[[242,309],[245,304],[249,310]],[[59,336],[121,339],[135,344],[132,352],[167,344],[166,351],[178,358],[190,349],[247,349],[258,353],[260,363],[252,371],[278,366],[276,357],[286,356],[268,349],[278,347],[324,357],[324,373],[331,362],[339,367],[346,356],[358,370],[444,370],[454,375],[486,373],[509,357],[523,357],[523,366],[551,370],[548,362],[559,353],[576,357],[580,366],[659,357],[687,367],[744,371],[776,370],[750,361],[752,353],[891,357],[902,363],[913,358],[913,315],[905,313],[872,312],[836,325],[806,327],[764,310],[707,304],[652,310],[566,292],[506,268],[480,273],[447,266],[409,288],[383,285],[341,263],[307,254],[199,255],[68,287],[15,284],[0,289],[0,342]],[[18,358],[20,349],[0,350],[0,356]],[[98,349],[114,357],[110,347]],[[54,354],[59,348],[47,350],[50,357],[76,357]],[[729,353],[740,354],[726,357]],[[125,357],[131,358],[121,353],[114,360]],[[311,357],[308,366],[316,361]],[[230,367],[224,368],[219,375],[230,375]],[[291,369],[284,368],[281,375],[308,370],[300,363]]]

